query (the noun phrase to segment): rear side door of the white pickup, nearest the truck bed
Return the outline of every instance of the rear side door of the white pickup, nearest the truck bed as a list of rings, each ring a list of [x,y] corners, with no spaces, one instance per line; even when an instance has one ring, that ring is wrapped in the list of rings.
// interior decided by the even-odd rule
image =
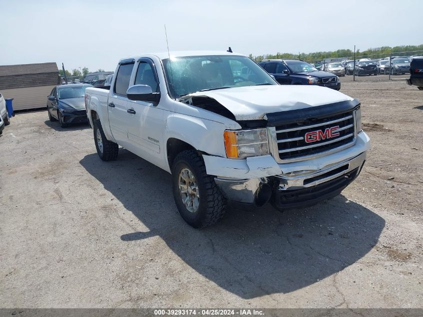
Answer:
[[[135,60],[122,61],[116,74],[113,87],[110,87],[108,100],[109,124],[116,142],[124,147],[128,144],[128,98],[129,87]]]

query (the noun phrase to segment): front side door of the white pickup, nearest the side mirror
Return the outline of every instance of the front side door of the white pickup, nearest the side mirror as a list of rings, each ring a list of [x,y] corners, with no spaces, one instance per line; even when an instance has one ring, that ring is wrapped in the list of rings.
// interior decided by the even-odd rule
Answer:
[[[153,60],[140,58],[134,85],[148,85],[153,92],[160,92],[159,79]],[[163,109],[159,103],[128,100],[127,127],[131,152],[151,162],[161,161],[163,151]],[[157,165],[157,164],[156,164]]]

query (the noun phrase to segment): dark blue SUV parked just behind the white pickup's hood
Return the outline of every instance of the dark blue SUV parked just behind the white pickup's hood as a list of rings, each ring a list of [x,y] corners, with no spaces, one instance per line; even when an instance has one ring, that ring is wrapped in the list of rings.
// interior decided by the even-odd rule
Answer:
[[[274,76],[281,85],[317,85],[336,90],[341,89],[341,83],[337,76],[319,71],[301,60],[264,60],[258,65]]]

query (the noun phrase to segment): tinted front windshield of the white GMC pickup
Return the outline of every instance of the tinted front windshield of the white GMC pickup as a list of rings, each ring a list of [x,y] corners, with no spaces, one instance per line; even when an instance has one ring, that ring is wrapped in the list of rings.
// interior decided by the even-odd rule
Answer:
[[[172,58],[170,63],[164,59],[163,64],[175,98],[205,90],[277,85],[266,71],[245,56],[187,56]]]

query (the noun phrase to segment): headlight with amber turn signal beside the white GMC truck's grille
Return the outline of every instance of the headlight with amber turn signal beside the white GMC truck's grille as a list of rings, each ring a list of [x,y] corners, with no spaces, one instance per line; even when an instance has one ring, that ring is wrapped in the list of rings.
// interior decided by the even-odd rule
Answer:
[[[228,158],[242,158],[269,154],[267,130],[225,131],[225,150]]]

